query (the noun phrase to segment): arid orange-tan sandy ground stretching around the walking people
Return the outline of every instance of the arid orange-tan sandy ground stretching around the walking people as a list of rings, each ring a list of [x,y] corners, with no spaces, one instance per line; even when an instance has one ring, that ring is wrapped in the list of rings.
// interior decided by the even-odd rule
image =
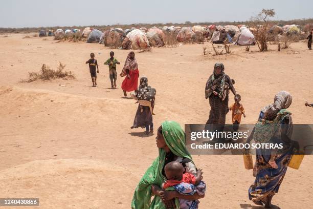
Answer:
[[[118,89],[109,89],[103,62],[110,49],[25,36],[0,36],[0,198],[38,197],[39,208],[130,208],[133,191],[158,149],[155,135],[130,129],[137,104],[122,98],[123,79],[118,77]],[[234,46],[228,56],[204,56],[203,46],[136,51],[140,74],[157,89],[155,129],[166,119],[181,126],[207,121],[210,107],[204,88],[217,61],[236,80],[247,115],[242,123],[254,123],[280,90],[293,95],[294,123],[313,122],[313,109],[304,106],[305,100],[313,102],[313,51],[305,43],[281,52],[273,45],[265,53],[256,46],[251,52]],[[114,51],[122,62],[120,73],[129,51]],[[100,65],[97,88],[91,87],[85,64],[91,52]],[[76,80],[20,82],[42,64],[56,69],[59,61]],[[193,158],[203,168],[208,187],[200,208],[262,208],[248,199],[254,177],[252,170],[244,169],[242,156]],[[312,160],[305,156],[299,170],[288,169],[274,204],[312,207]]]

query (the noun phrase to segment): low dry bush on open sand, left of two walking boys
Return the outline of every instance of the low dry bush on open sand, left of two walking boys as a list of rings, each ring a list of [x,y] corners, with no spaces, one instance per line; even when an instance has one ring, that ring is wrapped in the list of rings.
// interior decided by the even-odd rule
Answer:
[[[73,79],[75,79],[75,76],[72,73],[72,71],[63,71],[64,68],[65,68],[65,65],[63,65],[61,62],[59,64],[59,67],[57,68],[57,70],[53,70],[49,66],[43,64],[40,72],[29,72],[29,79],[24,80],[24,81],[32,82],[32,81],[35,81],[37,79],[50,80],[50,79],[57,79],[57,78],[73,78]]]

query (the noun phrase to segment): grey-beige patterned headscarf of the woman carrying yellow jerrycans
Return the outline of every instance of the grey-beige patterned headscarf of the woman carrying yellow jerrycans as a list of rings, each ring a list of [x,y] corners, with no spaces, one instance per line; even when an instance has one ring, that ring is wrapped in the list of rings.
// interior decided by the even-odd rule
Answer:
[[[265,113],[270,108],[275,108],[280,111],[281,109],[287,109],[293,102],[292,95],[287,91],[280,91],[274,97],[274,103],[264,107],[261,112]]]

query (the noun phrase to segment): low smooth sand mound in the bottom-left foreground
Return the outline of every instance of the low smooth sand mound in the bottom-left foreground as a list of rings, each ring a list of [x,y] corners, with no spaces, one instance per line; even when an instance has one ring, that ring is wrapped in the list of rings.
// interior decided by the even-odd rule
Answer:
[[[40,208],[126,208],[129,200],[116,194],[132,191],[132,181],[118,176],[133,178],[99,160],[36,160],[1,171],[0,194],[39,198]]]

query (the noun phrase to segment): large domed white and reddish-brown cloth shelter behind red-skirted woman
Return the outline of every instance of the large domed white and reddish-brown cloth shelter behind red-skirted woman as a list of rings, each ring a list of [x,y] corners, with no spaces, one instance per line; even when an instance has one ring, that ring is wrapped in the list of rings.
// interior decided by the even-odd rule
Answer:
[[[130,31],[123,40],[123,49],[141,49],[148,48],[149,41],[144,32],[139,29]]]

